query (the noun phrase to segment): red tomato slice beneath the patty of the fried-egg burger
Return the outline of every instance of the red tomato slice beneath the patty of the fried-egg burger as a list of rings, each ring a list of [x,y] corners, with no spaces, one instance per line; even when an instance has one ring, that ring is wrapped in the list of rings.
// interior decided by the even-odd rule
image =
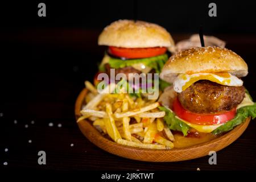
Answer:
[[[226,123],[236,115],[236,108],[233,108],[230,111],[214,114],[192,113],[191,111],[184,109],[177,98],[174,100],[172,107],[172,110],[179,118],[197,125],[217,125],[220,123]]]

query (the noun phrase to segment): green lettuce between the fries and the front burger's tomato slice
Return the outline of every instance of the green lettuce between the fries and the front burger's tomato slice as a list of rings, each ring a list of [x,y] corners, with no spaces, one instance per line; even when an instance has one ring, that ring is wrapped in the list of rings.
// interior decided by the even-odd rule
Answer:
[[[174,112],[164,106],[160,106],[158,108],[159,110],[166,112],[166,115],[164,116],[164,121],[167,123],[168,127],[171,130],[181,131],[184,136],[188,134],[188,130],[190,127],[180,119],[176,118]]]

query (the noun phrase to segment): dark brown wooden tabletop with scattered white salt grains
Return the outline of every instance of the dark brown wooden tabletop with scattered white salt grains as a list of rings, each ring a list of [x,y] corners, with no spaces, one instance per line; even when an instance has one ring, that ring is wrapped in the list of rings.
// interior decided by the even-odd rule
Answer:
[[[209,165],[209,156],[175,163],[139,162],[114,156],[90,143],[76,125],[74,105],[84,88],[84,81],[92,81],[97,62],[104,54],[104,47],[97,46],[98,34],[99,31],[76,29],[2,32],[1,168],[79,171],[256,168],[255,121],[251,121],[236,142],[217,152],[217,165]],[[217,36],[246,60],[249,75],[243,81],[256,100],[256,37]],[[174,34],[173,37],[177,41],[188,35]],[[5,148],[8,148],[7,152]],[[41,150],[46,151],[46,165],[38,164]],[[3,165],[5,162],[6,166]]]

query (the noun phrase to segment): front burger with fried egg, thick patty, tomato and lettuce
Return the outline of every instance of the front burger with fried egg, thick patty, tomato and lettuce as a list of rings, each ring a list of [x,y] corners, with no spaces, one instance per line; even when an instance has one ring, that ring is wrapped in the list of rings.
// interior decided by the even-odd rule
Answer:
[[[219,135],[255,118],[256,104],[241,80],[247,73],[242,57],[226,48],[190,48],[171,56],[160,73],[172,84],[159,98],[168,127],[183,136]]]

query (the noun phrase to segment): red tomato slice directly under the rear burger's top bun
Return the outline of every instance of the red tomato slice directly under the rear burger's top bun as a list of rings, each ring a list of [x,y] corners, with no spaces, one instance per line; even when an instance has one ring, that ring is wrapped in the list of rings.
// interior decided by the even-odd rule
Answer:
[[[117,57],[125,57],[127,59],[154,57],[162,55],[167,51],[166,47],[152,48],[122,48],[109,46],[109,53]]]

